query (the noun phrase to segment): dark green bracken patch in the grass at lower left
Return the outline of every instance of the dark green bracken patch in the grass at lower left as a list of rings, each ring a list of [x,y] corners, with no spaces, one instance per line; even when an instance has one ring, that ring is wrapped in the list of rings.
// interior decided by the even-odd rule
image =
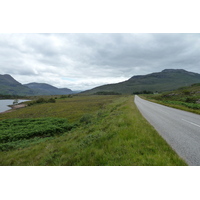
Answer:
[[[5,151],[26,143],[34,138],[46,138],[60,135],[76,127],[66,119],[8,119],[0,121],[0,150]],[[8,148],[6,148],[8,147]]]

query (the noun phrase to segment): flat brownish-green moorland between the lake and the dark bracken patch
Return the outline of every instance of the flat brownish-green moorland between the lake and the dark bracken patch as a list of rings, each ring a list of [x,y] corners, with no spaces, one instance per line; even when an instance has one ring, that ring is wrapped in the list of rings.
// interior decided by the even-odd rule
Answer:
[[[118,96],[75,96],[73,98],[56,99],[56,103],[44,103],[28,106],[11,113],[0,114],[0,120],[13,118],[67,118],[69,122],[75,122],[85,113],[93,113],[103,108]],[[30,102],[27,102],[27,104]]]

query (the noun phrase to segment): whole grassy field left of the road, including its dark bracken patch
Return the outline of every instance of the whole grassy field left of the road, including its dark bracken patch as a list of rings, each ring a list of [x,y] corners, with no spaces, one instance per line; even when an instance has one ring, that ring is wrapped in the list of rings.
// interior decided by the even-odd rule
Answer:
[[[1,149],[0,165],[186,165],[133,100],[133,96],[77,96],[1,114],[1,145],[13,145]],[[19,137],[12,134],[14,123]],[[35,133],[37,129],[41,131]]]

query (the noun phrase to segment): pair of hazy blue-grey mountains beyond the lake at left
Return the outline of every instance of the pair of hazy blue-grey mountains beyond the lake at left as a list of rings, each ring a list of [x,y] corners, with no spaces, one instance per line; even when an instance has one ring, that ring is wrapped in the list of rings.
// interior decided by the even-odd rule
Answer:
[[[29,83],[22,85],[9,74],[0,75],[0,94],[35,96],[35,95],[65,95],[74,93],[68,88],[56,88],[46,83]]]

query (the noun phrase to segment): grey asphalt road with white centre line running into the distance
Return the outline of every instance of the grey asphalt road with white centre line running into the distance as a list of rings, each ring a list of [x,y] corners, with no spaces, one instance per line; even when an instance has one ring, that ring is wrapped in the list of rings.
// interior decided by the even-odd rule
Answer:
[[[135,96],[142,115],[188,165],[200,166],[200,115]]]

